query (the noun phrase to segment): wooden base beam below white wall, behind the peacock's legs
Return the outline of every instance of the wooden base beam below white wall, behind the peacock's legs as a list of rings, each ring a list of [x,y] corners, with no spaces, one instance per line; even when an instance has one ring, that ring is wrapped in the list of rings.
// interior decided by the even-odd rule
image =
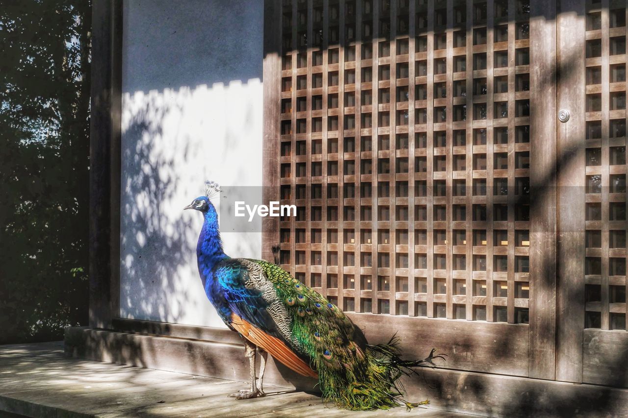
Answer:
[[[233,331],[129,320],[117,320],[116,328],[126,332],[70,328],[66,331],[65,353],[102,362],[246,382],[242,387],[250,383],[244,344]],[[259,363],[257,356],[258,372]],[[264,382],[306,391],[316,390],[317,383],[271,357]]]

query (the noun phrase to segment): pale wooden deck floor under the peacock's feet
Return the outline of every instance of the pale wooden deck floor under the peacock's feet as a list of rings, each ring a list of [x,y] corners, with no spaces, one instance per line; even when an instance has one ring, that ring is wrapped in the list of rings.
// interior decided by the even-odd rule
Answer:
[[[63,343],[0,346],[0,417],[470,417],[433,409],[348,412],[280,387],[235,400],[246,383],[63,355]],[[8,412],[17,415],[9,415]]]

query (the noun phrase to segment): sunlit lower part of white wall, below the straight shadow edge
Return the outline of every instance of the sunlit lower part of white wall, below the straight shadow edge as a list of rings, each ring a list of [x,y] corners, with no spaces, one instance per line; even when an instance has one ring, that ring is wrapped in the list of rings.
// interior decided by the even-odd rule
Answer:
[[[204,180],[259,179],[261,160],[246,154],[261,148],[258,105],[259,80],[123,95],[122,318],[224,327],[198,276],[203,218],[183,206],[204,193]],[[260,237],[259,229],[222,232],[234,257],[258,258]]]

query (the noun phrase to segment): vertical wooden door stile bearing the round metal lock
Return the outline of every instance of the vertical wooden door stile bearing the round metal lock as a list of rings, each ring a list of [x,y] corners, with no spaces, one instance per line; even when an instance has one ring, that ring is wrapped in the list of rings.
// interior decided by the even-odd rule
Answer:
[[[585,322],[585,0],[564,0],[557,18],[558,109],[568,109],[570,120],[557,127],[558,252],[561,260],[556,290],[556,379],[582,382],[582,328]]]

